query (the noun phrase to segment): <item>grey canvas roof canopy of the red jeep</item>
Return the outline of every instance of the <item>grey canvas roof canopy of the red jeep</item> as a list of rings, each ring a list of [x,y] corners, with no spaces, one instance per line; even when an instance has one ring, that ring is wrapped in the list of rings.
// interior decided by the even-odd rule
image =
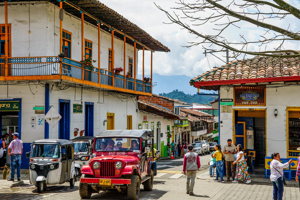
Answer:
[[[97,137],[135,137],[141,139],[147,139],[153,137],[153,130],[104,130]]]

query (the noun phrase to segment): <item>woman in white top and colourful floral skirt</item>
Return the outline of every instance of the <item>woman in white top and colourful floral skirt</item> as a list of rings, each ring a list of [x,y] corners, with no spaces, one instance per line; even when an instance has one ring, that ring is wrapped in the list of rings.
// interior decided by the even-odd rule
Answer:
[[[238,153],[236,154],[236,160],[233,162],[233,164],[236,164],[236,172],[235,172],[235,180],[232,181],[232,183],[239,183],[239,182],[245,182],[245,183],[251,183],[250,176],[247,171],[247,163],[244,158],[244,152],[242,145],[238,144],[236,145],[236,149]]]

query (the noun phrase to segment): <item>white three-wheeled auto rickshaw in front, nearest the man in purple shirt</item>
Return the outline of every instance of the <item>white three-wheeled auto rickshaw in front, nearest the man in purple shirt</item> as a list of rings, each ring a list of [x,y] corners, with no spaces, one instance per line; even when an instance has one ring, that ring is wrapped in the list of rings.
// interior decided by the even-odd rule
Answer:
[[[29,180],[42,193],[46,185],[76,181],[74,144],[65,139],[41,139],[31,143],[29,158]]]

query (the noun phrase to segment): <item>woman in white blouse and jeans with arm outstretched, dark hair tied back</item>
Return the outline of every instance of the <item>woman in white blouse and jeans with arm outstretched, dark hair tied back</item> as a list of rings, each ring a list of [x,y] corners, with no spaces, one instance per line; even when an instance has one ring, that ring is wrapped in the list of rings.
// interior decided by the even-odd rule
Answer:
[[[283,197],[283,168],[287,168],[292,159],[287,163],[280,163],[279,153],[272,154],[272,161],[270,163],[271,175],[270,180],[273,184],[273,199],[282,200]]]

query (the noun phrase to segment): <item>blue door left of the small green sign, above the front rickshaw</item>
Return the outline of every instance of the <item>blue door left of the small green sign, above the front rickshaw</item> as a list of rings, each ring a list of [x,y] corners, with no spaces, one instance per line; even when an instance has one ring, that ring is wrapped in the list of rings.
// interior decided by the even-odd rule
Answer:
[[[70,140],[70,100],[58,100],[59,120],[58,139]]]

